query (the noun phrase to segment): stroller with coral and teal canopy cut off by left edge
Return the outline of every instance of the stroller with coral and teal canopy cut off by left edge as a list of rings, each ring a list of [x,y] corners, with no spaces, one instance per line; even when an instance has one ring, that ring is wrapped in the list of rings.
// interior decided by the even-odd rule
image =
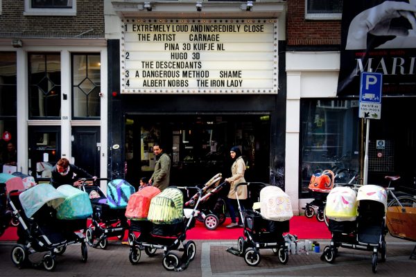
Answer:
[[[0,236],[10,226],[17,226],[19,222],[12,216],[10,205],[8,205],[7,194],[11,190],[24,190],[24,182],[21,178],[8,173],[0,173]],[[15,193],[19,194],[19,193]]]

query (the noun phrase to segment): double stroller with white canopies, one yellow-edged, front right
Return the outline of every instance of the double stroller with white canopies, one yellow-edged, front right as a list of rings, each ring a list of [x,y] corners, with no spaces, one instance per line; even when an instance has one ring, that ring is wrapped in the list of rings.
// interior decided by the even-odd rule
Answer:
[[[381,186],[361,186],[358,193],[347,186],[333,188],[325,210],[332,239],[321,260],[334,262],[339,247],[372,251],[372,271],[376,273],[378,253],[381,262],[386,258],[386,207],[387,193]]]

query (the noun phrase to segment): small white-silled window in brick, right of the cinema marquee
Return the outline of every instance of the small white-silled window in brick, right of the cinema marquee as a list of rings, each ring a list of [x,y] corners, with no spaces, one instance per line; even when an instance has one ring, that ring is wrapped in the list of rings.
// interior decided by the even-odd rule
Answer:
[[[343,0],[305,0],[306,19],[341,19],[342,14]]]

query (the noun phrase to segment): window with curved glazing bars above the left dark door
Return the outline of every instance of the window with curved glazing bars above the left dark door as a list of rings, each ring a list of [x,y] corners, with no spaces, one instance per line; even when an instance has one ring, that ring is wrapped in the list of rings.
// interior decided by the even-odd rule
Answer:
[[[61,107],[60,55],[30,53],[28,62],[29,117],[58,119]]]

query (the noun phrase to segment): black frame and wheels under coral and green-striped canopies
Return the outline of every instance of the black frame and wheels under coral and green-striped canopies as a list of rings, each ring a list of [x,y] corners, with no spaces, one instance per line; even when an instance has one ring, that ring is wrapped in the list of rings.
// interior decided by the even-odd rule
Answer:
[[[169,188],[178,188],[180,190],[189,191],[190,189],[198,190],[198,195],[201,195],[202,191],[198,187],[180,187],[169,186]],[[186,224],[181,227],[180,233],[173,236],[154,235],[150,230],[153,226],[153,222],[148,220],[130,221],[129,231],[129,244],[130,253],[129,260],[132,265],[137,265],[141,257],[141,250],[144,249],[145,253],[149,257],[156,255],[157,249],[164,251],[162,265],[168,271],[183,271],[187,269],[189,262],[191,262],[196,256],[196,243],[193,240],[189,240],[184,243],[187,238],[187,230],[191,229],[195,224],[195,218],[198,215],[198,205],[200,203],[200,196],[196,199],[196,204],[193,209],[189,209],[189,214],[185,213],[184,220]],[[139,222],[139,224],[135,224]],[[185,223],[185,222],[183,222]],[[143,225],[145,227],[143,227]],[[171,224],[169,224],[171,225]],[[140,235],[136,238],[135,231],[140,232]],[[182,245],[182,247],[181,247]],[[173,251],[183,252],[181,257],[178,257]]]

